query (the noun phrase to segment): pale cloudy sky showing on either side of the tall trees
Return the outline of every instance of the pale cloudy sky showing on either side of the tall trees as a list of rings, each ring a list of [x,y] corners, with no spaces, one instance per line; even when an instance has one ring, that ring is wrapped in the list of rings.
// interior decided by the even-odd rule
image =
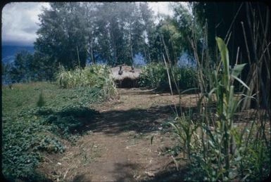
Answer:
[[[157,15],[158,12],[173,15],[169,2],[149,2]],[[49,8],[45,2],[9,3],[2,9],[2,45],[32,46],[37,38],[39,13],[42,7]]]

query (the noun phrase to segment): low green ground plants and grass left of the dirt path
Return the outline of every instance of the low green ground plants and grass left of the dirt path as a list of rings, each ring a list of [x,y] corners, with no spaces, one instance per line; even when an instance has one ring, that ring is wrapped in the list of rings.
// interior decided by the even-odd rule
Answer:
[[[74,141],[84,132],[82,126],[97,114],[89,104],[105,98],[99,89],[61,89],[46,82],[15,84],[13,88],[2,87],[3,173],[12,181],[37,180],[42,174],[34,169],[44,152],[65,152],[62,141]],[[38,107],[40,93],[42,105]]]

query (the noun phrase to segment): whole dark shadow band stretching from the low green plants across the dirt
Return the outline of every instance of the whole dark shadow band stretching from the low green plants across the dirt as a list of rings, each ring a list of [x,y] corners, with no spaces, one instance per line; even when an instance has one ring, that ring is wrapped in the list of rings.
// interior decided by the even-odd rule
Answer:
[[[196,108],[182,108],[185,110]],[[120,134],[125,131],[149,133],[156,131],[167,121],[175,118],[174,105],[163,105],[149,109],[109,110],[97,112],[85,107],[69,107],[53,112],[41,109],[37,115],[58,127],[58,132],[67,134],[84,134],[85,131]],[[179,108],[177,108],[179,110]]]

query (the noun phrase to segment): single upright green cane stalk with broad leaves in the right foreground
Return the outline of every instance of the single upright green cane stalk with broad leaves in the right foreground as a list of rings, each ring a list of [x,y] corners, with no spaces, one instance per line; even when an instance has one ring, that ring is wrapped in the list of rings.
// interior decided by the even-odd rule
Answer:
[[[220,51],[221,61],[217,69],[213,71],[213,85],[214,88],[205,95],[207,100],[215,102],[216,107],[216,121],[214,124],[214,131],[210,131],[208,126],[203,126],[210,138],[209,143],[211,147],[217,151],[216,159],[218,160],[218,173],[216,178],[225,177],[232,178],[233,174],[230,171],[231,154],[230,149],[233,145],[233,117],[237,111],[238,106],[243,100],[241,97],[234,96],[234,80],[240,82],[246,89],[248,86],[238,78],[241,71],[246,64],[234,65],[231,69],[229,65],[229,51],[225,42],[220,38],[215,38]],[[213,96],[215,95],[215,96]]]

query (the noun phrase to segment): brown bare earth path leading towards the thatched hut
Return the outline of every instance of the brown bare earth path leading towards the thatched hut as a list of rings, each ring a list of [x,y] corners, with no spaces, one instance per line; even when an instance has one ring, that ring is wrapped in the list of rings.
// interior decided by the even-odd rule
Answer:
[[[179,96],[146,89],[119,93],[118,100],[91,105],[100,115],[75,145],[67,143],[63,154],[46,158],[40,167],[46,176],[53,181],[156,181],[175,169],[170,155],[163,155],[176,143],[163,124],[174,119],[172,105]],[[196,103],[196,95],[182,97],[184,103]]]

